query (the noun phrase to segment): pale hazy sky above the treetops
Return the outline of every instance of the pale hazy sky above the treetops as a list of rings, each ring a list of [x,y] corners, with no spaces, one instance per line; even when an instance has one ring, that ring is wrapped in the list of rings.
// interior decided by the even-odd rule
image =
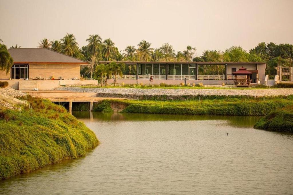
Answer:
[[[66,33],[86,45],[90,34],[111,38],[119,50],[145,39],[202,51],[259,42],[293,44],[293,0],[0,0],[0,39],[8,47],[36,48]]]

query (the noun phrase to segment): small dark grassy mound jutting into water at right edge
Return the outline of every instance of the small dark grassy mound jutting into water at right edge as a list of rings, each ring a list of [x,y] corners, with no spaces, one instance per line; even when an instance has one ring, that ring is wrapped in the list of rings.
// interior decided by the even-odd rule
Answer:
[[[293,133],[293,106],[270,112],[260,118],[254,128]]]

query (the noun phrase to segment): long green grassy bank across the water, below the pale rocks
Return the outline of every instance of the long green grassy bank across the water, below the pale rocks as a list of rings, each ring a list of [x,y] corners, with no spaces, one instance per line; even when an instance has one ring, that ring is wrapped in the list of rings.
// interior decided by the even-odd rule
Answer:
[[[293,105],[293,96],[205,96],[191,101],[104,100],[96,103],[93,110],[111,112],[119,107],[122,113],[263,116],[289,105]]]

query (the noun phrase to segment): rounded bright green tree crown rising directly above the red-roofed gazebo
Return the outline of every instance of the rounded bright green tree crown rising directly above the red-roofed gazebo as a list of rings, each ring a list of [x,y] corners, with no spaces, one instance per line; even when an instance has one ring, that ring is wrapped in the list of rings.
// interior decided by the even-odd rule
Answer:
[[[248,62],[249,54],[241,46],[232,46],[224,53],[225,62]]]

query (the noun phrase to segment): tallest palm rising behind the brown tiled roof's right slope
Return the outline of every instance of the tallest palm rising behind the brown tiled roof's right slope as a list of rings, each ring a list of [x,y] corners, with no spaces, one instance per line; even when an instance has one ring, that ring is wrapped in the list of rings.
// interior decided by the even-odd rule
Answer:
[[[78,50],[78,43],[73,34],[67,33],[62,39],[62,53],[74,56]]]

